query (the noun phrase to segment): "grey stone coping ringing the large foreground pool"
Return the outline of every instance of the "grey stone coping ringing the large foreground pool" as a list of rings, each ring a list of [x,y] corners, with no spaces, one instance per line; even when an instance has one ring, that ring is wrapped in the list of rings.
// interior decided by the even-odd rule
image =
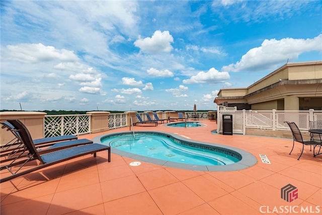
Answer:
[[[133,133],[132,131],[123,131],[123,132],[102,134],[102,135],[94,137],[93,141],[102,144],[101,139],[103,137],[122,135],[122,134],[132,134],[132,133]],[[111,153],[114,153],[114,154],[117,154],[120,156],[124,156],[127,158],[132,158],[132,159],[135,159],[138,161],[157,164],[160,166],[173,167],[173,168],[186,169],[186,170],[207,171],[207,172],[219,172],[219,171],[224,172],[224,171],[242,170],[242,169],[246,169],[251,166],[254,166],[258,162],[257,158],[253,154],[251,154],[247,151],[235,148],[235,147],[230,147],[230,146],[225,146],[225,145],[220,145],[220,144],[213,144],[213,143],[209,143],[209,142],[202,142],[202,141],[197,141],[197,140],[191,140],[191,139],[187,139],[187,138],[181,137],[177,134],[173,134],[173,133],[169,133],[169,132],[147,130],[147,131],[136,131],[136,133],[152,133],[152,134],[154,133],[154,134],[161,134],[161,135],[169,135],[169,136],[172,136],[173,138],[178,139],[180,141],[191,142],[192,144],[205,145],[205,146],[211,146],[211,147],[225,149],[227,151],[234,151],[241,156],[241,160],[234,163],[234,164],[219,165],[219,166],[216,166],[216,165],[191,165],[191,164],[181,164],[181,163],[176,163],[176,162],[171,162],[171,161],[149,158],[149,157],[117,150],[112,147],[111,147]]]

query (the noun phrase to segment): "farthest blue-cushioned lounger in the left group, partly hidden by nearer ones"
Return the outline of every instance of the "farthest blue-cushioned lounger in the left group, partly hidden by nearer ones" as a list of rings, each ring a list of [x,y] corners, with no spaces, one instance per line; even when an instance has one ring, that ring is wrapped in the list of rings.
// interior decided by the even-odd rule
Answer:
[[[2,124],[2,128],[6,128],[7,131],[10,131],[15,137],[9,141],[7,144],[1,146],[1,155],[0,157],[7,156],[12,151],[16,150],[23,146],[22,142],[19,140],[19,134],[15,131],[15,127],[10,124],[8,121],[0,122]],[[53,142],[59,141],[66,141],[66,140],[73,140],[77,139],[75,135],[62,135],[62,136],[52,136],[52,137],[45,137],[39,139],[33,139],[35,146],[40,147],[47,147],[53,145]]]

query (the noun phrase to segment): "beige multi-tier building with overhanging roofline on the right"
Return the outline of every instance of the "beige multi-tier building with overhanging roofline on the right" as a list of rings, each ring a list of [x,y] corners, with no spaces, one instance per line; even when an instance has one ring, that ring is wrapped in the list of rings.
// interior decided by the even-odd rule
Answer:
[[[322,110],[322,60],[286,63],[247,88],[220,89],[214,103],[237,110]]]

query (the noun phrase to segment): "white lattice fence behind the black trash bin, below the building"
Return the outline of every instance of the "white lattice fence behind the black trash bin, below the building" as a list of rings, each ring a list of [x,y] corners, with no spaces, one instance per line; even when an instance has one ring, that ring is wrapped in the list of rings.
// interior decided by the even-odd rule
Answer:
[[[284,121],[295,122],[300,130],[309,130],[309,121],[322,120],[320,110],[297,110],[297,111],[218,111],[217,132],[222,133],[222,114],[232,114],[233,133],[246,133],[246,128],[268,129],[268,130],[289,130]]]

